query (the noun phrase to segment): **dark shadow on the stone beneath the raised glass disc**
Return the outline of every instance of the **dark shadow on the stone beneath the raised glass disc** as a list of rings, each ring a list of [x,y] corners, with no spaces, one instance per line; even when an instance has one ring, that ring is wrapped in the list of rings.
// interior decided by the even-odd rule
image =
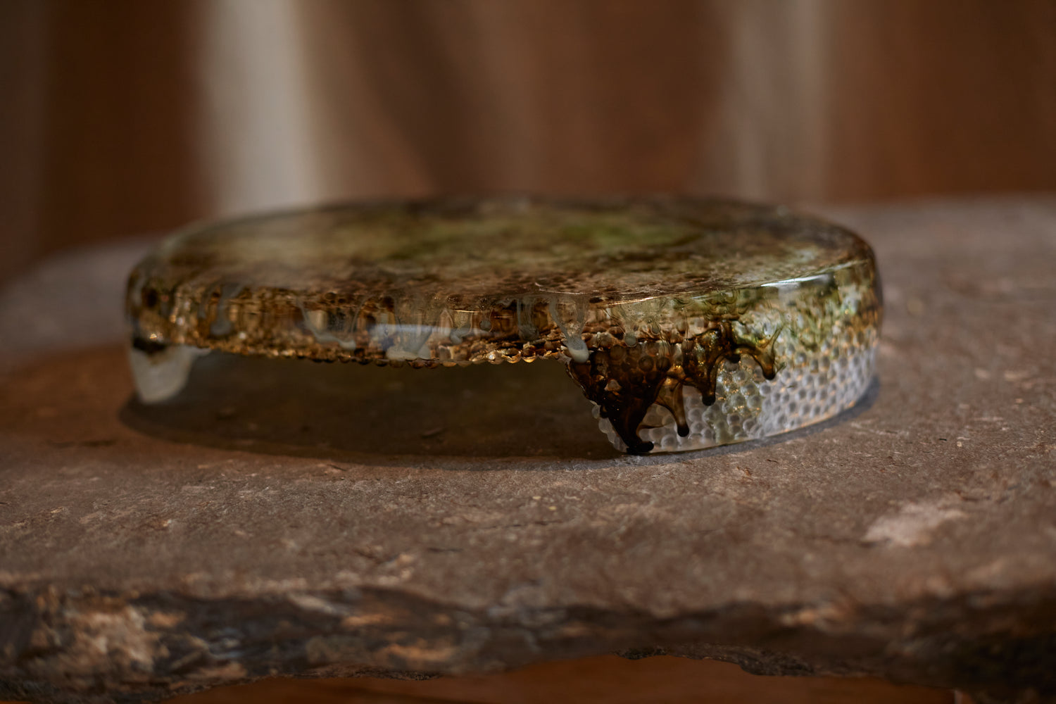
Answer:
[[[873,379],[853,407],[791,433],[627,457],[608,444],[590,402],[557,362],[413,369],[213,353],[194,363],[176,397],[144,404],[133,396],[120,419],[176,442],[350,461],[545,457],[607,463],[622,456],[662,464],[812,435],[868,410],[879,389]]]

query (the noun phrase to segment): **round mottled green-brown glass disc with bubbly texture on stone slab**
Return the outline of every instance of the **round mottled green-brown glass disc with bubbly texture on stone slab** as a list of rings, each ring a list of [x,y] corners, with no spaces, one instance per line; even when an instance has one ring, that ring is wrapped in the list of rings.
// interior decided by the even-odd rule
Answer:
[[[144,402],[177,394],[208,350],[553,360],[636,454],[761,438],[853,405],[882,313],[872,251],[852,232],[685,197],[353,204],[195,226],[135,267],[126,303]]]

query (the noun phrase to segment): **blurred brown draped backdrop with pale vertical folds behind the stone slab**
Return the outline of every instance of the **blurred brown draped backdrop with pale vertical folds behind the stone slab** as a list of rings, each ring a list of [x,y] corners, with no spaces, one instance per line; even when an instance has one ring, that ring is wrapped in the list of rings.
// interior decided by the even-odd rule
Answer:
[[[3,0],[0,278],[324,199],[1056,189],[1054,0]]]

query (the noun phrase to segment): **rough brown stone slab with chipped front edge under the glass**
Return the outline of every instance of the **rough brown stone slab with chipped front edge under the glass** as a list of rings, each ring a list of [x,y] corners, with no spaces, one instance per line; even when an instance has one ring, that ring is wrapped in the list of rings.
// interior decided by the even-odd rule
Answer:
[[[142,406],[112,281],[139,245],[14,282],[0,697],[611,651],[1056,695],[1056,199],[830,214],[878,253],[879,383],[682,455],[615,453],[546,361],[216,356]]]

